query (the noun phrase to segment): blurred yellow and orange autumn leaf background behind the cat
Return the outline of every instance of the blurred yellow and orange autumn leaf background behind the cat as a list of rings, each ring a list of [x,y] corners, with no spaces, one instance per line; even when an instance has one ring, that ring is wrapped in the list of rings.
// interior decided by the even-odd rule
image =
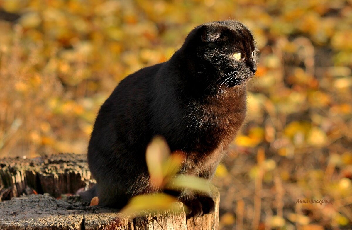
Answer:
[[[226,19],[260,60],[214,178],[220,229],[351,229],[351,0],[0,0],[0,157],[86,153],[121,79]]]

